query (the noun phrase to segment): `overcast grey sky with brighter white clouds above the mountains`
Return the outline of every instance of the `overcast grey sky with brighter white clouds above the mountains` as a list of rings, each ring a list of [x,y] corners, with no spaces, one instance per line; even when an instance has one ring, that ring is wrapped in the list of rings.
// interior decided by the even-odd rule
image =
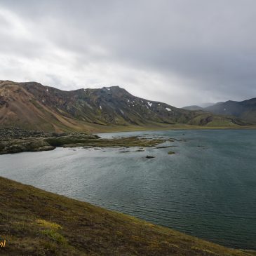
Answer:
[[[255,0],[0,0],[0,80],[176,107],[256,97]]]

